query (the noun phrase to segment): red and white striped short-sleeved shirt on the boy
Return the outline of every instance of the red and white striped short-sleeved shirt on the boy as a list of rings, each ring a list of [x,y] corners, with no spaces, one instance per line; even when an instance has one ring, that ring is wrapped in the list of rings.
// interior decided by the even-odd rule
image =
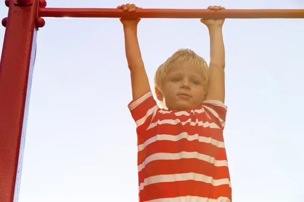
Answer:
[[[222,102],[168,111],[149,91],[128,107],[137,125],[140,202],[232,201]]]

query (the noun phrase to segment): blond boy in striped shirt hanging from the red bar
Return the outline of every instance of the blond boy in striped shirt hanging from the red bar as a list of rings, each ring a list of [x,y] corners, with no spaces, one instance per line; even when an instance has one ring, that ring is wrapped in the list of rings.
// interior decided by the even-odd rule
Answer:
[[[135,5],[118,9],[135,12]],[[212,11],[222,7],[209,7]],[[139,201],[231,202],[232,190],[223,129],[224,19],[201,19],[210,34],[210,64],[189,49],[181,49],[155,75],[153,98],[137,40],[140,19],[120,19],[131,71],[137,125]]]

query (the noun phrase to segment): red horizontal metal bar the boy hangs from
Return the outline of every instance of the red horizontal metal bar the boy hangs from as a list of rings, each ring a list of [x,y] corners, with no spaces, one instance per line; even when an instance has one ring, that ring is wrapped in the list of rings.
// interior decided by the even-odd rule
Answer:
[[[40,8],[40,17],[70,18],[304,18],[304,10],[120,9]]]

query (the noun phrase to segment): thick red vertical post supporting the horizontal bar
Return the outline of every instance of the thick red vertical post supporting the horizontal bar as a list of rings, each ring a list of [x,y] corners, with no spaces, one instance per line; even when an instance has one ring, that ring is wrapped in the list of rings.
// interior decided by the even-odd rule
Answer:
[[[19,197],[29,97],[35,61],[38,1],[10,0],[9,5],[0,62],[1,202],[17,202]]]

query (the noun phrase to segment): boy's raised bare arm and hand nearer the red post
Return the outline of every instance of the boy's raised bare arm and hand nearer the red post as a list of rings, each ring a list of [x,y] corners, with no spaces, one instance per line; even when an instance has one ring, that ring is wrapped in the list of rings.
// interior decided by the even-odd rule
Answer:
[[[119,6],[118,9],[123,9],[125,12],[135,12],[136,9],[140,8],[136,7],[134,4],[127,4]],[[150,91],[149,80],[144,69],[137,39],[137,25],[139,21],[140,19],[121,19],[125,33],[126,57],[131,72],[133,100],[138,99],[143,94]]]

